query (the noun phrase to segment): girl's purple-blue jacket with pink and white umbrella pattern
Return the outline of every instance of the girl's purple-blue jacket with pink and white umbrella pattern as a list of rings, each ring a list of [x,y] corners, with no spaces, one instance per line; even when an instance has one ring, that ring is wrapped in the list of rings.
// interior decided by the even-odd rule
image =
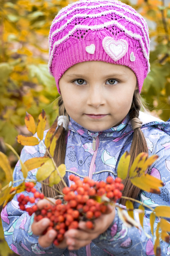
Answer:
[[[169,205],[170,194],[170,120],[164,122],[150,115],[140,112],[140,120],[143,121],[141,127],[146,142],[148,144],[149,156],[157,154],[159,158],[153,163],[149,174],[161,179],[164,186],[160,195],[142,191],[139,200],[146,205],[156,207],[158,205]],[[46,132],[44,133],[44,137]],[[130,150],[133,138],[133,130],[128,115],[117,127],[110,128],[103,132],[92,133],[79,124],[70,120],[69,133],[67,138],[67,148],[65,156],[66,180],[70,185],[69,175],[76,174],[80,178],[89,176],[95,181],[106,180],[107,176],[116,177],[117,165],[121,155]],[[95,150],[92,150],[92,144]],[[44,141],[36,146],[24,146],[21,153],[21,160],[24,162],[33,157],[44,156]],[[14,169],[14,180],[23,178],[19,162]],[[37,169],[29,171],[28,177],[36,179]],[[17,183],[16,183],[17,185]],[[41,184],[37,182],[37,187],[41,189]],[[23,192],[26,193],[26,192]],[[148,238],[141,229],[135,227],[128,228],[116,216],[110,227],[99,237],[86,247],[76,251],[58,249],[51,245],[42,248],[38,244],[38,237],[32,234],[31,224],[33,216],[18,208],[16,195],[11,202],[5,206],[1,213],[4,237],[10,249],[22,256],[139,256],[154,255],[153,237],[150,231],[150,211],[146,208],[144,218],[144,229],[151,235]],[[137,205],[135,205],[138,207]],[[135,207],[134,206],[134,207]],[[136,220],[139,220],[137,212]],[[156,221],[157,222],[157,221]],[[102,224],[102,223],[101,223]],[[155,223],[154,228],[156,228]],[[161,241],[161,255],[170,255],[170,244]]]

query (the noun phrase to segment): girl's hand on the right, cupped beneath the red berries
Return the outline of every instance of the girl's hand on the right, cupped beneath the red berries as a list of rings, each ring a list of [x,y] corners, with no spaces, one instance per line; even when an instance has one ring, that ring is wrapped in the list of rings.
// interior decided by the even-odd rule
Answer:
[[[107,213],[102,214],[94,221],[94,229],[87,229],[85,221],[81,221],[78,226],[79,229],[69,229],[65,232],[68,250],[78,250],[90,244],[93,239],[97,238],[108,229],[115,217],[115,207],[110,205],[107,207]]]

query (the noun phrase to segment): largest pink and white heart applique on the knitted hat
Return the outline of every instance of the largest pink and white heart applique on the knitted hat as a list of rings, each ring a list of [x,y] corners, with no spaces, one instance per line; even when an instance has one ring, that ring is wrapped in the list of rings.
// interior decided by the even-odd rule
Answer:
[[[102,41],[105,52],[114,60],[121,59],[128,50],[128,44],[124,39],[114,40],[111,36],[106,36]]]

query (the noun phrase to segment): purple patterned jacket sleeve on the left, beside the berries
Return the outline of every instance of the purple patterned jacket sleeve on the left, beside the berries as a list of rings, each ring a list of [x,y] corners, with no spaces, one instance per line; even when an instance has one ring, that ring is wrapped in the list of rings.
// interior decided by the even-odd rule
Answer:
[[[24,146],[21,152],[21,160],[25,162],[26,160],[33,157],[44,156],[44,151],[45,149],[43,146]],[[37,169],[29,171],[28,178],[36,179],[36,172]],[[14,181],[23,178],[19,162],[14,169],[13,178]],[[15,186],[18,184],[19,183],[16,182]],[[41,189],[41,184],[39,182],[37,182],[37,188]],[[26,191],[22,193],[28,195],[28,192]],[[38,236],[33,235],[31,230],[34,216],[29,216],[27,212],[21,211],[19,209],[17,202],[18,195],[19,194],[15,195],[15,197],[3,208],[1,212],[4,237],[10,249],[13,252],[23,256],[47,256],[51,254],[56,256],[62,255],[64,251],[63,249],[58,249],[52,244],[50,247],[42,248],[38,244]]]

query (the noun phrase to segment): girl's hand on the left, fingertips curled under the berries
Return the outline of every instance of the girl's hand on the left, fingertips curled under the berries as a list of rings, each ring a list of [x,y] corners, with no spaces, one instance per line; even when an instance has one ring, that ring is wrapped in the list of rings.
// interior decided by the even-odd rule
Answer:
[[[54,203],[56,201],[53,198],[49,198],[49,200]],[[42,209],[43,206],[46,205],[47,203],[49,203],[48,200],[42,199],[38,201],[37,206],[39,209]],[[37,222],[34,221],[31,226],[33,234],[36,236],[39,236],[38,238],[39,245],[44,248],[50,246],[57,235],[57,232],[54,229],[48,230],[45,235],[42,235],[44,230],[48,228],[49,224],[50,224],[50,220],[48,218],[43,218],[40,221],[37,221]],[[57,247],[60,249],[67,247],[65,239]]]

